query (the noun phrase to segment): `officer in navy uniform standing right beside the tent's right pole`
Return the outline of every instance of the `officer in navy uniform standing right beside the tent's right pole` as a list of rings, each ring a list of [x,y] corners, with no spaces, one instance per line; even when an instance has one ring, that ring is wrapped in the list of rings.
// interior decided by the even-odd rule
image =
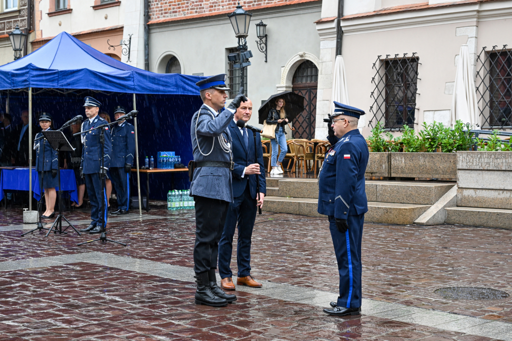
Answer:
[[[114,118],[118,120],[123,115],[126,115],[126,110],[118,105],[114,110]],[[110,176],[117,196],[117,211],[111,214],[127,214],[130,200],[130,172],[135,154],[135,129],[130,123],[121,121],[112,127],[111,134]]]

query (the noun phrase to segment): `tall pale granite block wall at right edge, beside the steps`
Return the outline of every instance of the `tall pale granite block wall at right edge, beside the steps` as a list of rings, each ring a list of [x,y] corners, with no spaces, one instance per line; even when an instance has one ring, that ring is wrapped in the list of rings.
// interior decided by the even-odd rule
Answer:
[[[457,152],[457,206],[512,209],[512,152]]]

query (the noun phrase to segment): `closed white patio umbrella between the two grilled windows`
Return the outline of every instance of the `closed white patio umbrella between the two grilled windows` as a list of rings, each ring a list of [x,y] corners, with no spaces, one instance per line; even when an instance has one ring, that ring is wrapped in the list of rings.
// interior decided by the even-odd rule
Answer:
[[[472,128],[480,129],[478,99],[467,45],[460,47],[459,64],[455,74],[452,110],[450,111],[450,127],[452,129],[457,120],[469,123]]]

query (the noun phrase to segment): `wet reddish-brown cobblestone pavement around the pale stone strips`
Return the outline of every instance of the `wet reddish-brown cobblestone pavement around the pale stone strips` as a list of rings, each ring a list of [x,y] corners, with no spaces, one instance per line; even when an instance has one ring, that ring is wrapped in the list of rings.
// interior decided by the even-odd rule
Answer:
[[[135,214],[129,221],[110,219],[109,238],[126,242],[127,247],[98,242],[76,246],[92,238],[74,233],[48,238],[34,233],[22,238],[20,216],[20,212],[0,210],[0,270],[6,261],[86,252],[193,266],[195,225],[190,212],[155,209],[144,219],[136,219]],[[77,221],[78,227],[88,224],[86,212],[67,217]],[[325,218],[258,216],[252,274],[273,283],[336,292],[337,271],[327,227]],[[449,286],[512,292],[511,239],[508,230],[365,224],[364,297],[512,323],[511,298],[457,301],[434,293]],[[193,304],[195,289],[187,287],[191,284],[187,281],[86,262],[44,267],[37,267],[36,260],[32,263],[35,268],[0,272],[0,340],[492,339],[389,316],[335,318],[317,306],[253,292],[237,291],[236,303],[208,308]],[[236,262],[232,266],[235,272]]]

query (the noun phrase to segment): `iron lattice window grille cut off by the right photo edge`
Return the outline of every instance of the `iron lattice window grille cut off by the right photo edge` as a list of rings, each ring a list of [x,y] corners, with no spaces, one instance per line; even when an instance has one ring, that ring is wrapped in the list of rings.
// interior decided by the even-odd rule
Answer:
[[[512,51],[497,46],[477,56],[476,92],[483,128],[512,126]]]

